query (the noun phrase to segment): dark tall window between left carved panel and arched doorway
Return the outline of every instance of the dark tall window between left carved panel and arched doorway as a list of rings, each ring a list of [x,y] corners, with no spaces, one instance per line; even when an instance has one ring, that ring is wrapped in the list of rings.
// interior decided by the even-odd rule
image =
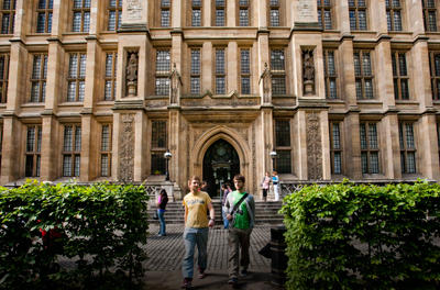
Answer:
[[[165,175],[166,159],[164,157],[164,154],[168,147],[168,121],[165,119],[153,119],[151,120],[150,124],[151,124],[151,154],[150,154],[151,174]],[[155,124],[157,124],[156,131],[154,129]],[[157,134],[157,136],[155,136],[155,133]],[[158,144],[161,135],[163,135],[164,138],[163,140],[164,146],[161,146],[161,144]],[[155,138],[157,140],[157,142],[155,142]],[[157,143],[157,146],[154,146],[155,143]]]

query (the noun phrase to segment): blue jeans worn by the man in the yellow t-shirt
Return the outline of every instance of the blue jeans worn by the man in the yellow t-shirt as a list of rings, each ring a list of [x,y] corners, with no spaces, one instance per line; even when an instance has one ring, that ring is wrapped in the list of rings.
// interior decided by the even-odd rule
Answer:
[[[184,278],[193,278],[194,276],[194,252],[197,245],[199,252],[197,264],[201,270],[208,265],[208,227],[195,228],[185,227],[184,231],[185,256],[182,263],[182,274]]]

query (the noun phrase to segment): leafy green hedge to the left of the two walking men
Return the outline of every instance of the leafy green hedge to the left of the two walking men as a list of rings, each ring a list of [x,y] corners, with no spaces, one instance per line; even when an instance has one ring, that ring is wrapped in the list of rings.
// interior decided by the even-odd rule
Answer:
[[[0,288],[127,289],[146,259],[142,186],[29,182],[0,192]],[[41,230],[53,238],[42,238]],[[47,235],[46,235],[47,236]],[[75,267],[59,267],[59,258]]]

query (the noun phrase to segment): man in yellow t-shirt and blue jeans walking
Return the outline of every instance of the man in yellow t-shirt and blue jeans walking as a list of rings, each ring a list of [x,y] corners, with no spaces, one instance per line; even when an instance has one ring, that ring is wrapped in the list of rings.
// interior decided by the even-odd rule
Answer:
[[[191,281],[194,275],[194,250],[197,245],[199,278],[206,276],[206,268],[208,265],[208,226],[212,227],[215,224],[215,211],[211,198],[205,191],[200,191],[200,178],[197,176],[191,177],[188,181],[190,192],[184,198],[185,207],[185,256],[182,264],[182,272],[184,276],[184,283],[182,288],[191,289]],[[207,211],[209,210],[210,220],[208,221]]]

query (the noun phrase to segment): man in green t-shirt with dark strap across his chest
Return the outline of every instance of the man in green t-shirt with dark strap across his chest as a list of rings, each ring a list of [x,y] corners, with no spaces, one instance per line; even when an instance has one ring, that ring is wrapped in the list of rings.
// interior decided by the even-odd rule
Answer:
[[[235,191],[228,194],[226,208],[228,210],[229,223],[229,283],[233,287],[238,285],[240,266],[241,275],[248,275],[249,247],[252,228],[255,220],[255,201],[253,196],[244,191],[244,176],[237,175],[233,179]],[[239,265],[239,254],[241,259]]]

